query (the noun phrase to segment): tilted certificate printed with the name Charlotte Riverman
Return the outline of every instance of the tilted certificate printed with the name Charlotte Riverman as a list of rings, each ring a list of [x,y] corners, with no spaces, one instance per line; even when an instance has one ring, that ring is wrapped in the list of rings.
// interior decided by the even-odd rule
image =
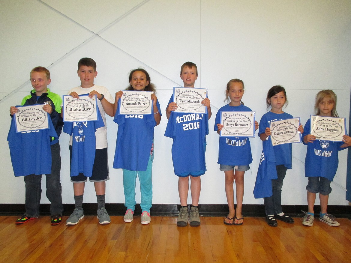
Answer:
[[[301,133],[298,131],[299,126],[300,118],[271,121],[270,129],[273,146],[301,142]]]

